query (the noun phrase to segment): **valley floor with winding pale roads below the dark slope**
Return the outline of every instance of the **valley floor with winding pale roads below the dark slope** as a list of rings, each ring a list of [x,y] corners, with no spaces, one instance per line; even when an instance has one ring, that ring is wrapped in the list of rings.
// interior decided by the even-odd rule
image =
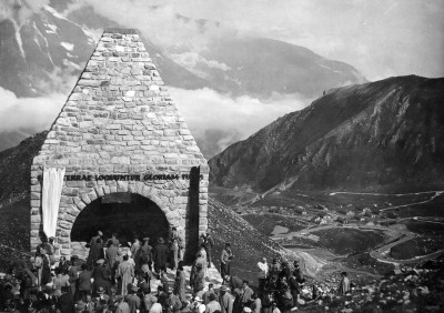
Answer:
[[[234,203],[230,194],[219,198]],[[321,260],[317,280],[339,271],[373,280],[444,253],[443,191],[274,191],[241,198],[232,208],[289,251]]]

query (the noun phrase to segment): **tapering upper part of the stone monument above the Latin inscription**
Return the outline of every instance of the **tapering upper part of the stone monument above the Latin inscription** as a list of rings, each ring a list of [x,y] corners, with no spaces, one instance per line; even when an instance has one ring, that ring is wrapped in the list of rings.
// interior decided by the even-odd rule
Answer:
[[[131,29],[105,30],[42,152],[46,148],[56,159],[75,153],[79,164],[97,158],[129,165],[147,158],[159,164],[205,163],[139,34]]]

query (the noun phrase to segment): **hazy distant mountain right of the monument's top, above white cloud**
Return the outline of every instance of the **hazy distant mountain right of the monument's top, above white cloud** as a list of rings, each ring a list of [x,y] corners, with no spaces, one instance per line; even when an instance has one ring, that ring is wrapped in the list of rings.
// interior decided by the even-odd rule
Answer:
[[[324,90],[366,82],[353,67],[327,60],[303,47],[265,38],[218,40],[200,54],[172,53],[173,60],[225,92],[260,98]]]

